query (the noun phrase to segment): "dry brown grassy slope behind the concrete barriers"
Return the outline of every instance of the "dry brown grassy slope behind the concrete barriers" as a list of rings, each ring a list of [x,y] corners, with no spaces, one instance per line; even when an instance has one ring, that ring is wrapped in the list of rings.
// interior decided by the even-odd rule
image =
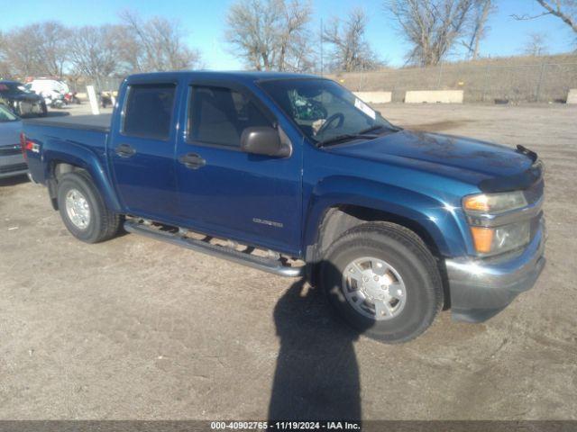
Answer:
[[[355,92],[392,92],[404,102],[408,90],[463,90],[465,103],[564,103],[577,88],[577,62],[532,65],[407,67],[330,74]]]

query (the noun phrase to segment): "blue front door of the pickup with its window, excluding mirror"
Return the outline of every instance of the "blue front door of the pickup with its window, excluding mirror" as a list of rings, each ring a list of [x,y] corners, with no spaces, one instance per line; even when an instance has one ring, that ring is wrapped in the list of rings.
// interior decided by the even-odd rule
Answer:
[[[241,151],[245,128],[277,124],[239,85],[190,86],[186,115],[176,155],[180,216],[216,236],[297,253],[300,146],[290,157]]]

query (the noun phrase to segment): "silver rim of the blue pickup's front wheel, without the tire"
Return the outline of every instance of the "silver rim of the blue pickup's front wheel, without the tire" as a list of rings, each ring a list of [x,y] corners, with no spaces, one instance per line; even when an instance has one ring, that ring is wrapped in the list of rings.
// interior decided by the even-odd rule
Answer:
[[[372,320],[391,320],[407,303],[398,271],[375,257],[358,258],[344,267],[343,292],[355,311]]]

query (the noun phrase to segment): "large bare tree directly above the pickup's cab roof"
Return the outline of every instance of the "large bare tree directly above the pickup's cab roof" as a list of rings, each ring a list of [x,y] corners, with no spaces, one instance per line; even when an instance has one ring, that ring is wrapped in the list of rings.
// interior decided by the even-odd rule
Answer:
[[[311,14],[310,4],[301,0],[238,0],[226,15],[224,37],[251,69],[308,70]]]

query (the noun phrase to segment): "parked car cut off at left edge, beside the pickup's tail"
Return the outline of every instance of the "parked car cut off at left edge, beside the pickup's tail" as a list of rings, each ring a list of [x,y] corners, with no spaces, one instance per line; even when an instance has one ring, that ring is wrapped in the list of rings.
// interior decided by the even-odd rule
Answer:
[[[20,146],[22,127],[14,112],[0,104],[0,178],[28,172]]]

